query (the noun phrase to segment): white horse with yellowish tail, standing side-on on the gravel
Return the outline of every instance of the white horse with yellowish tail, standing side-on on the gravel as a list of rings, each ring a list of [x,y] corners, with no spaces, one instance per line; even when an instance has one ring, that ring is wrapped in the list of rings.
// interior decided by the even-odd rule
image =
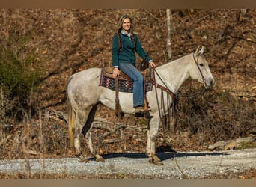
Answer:
[[[161,99],[162,94],[157,94],[165,88],[164,96],[169,93],[177,93],[180,86],[186,79],[192,78],[204,84],[205,88],[212,88],[214,85],[213,75],[210,72],[208,63],[203,55],[204,47],[196,49],[195,53],[185,55],[174,61],[156,67],[156,89],[147,92],[147,101],[150,105],[150,115],[153,117],[149,122],[147,130],[146,154],[149,162],[162,165],[162,161],[156,156],[156,135],[161,122],[159,111],[168,111],[167,105],[159,108],[156,97]],[[70,146],[75,146],[76,156],[82,161],[88,162],[81,153],[79,137],[85,134],[86,143],[91,154],[97,161],[104,161],[103,157],[96,153],[91,141],[91,123],[94,121],[94,114],[97,104],[101,103],[106,107],[115,110],[115,91],[99,86],[100,68],[90,68],[70,76],[67,83],[67,103],[69,106],[69,132]],[[155,87],[154,86],[154,87]],[[134,114],[132,105],[132,93],[119,93],[120,105],[124,114]],[[172,102],[172,98],[168,100]],[[168,103],[171,104],[171,103]],[[89,131],[88,131],[89,130]],[[88,133],[87,133],[88,132]]]

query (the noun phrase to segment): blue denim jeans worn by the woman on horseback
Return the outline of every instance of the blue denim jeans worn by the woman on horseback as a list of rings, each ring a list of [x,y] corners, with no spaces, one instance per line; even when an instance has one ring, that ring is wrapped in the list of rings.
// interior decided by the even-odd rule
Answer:
[[[144,106],[144,85],[141,72],[132,64],[120,62],[119,68],[133,80],[133,107]]]

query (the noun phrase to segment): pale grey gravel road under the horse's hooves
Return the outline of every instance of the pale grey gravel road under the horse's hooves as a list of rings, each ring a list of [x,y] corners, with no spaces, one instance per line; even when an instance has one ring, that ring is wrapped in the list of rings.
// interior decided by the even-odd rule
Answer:
[[[137,178],[155,177],[166,179],[201,178],[213,174],[240,172],[256,168],[256,148],[216,152],[157,153],[164,165],[148,162],[141,153],[123,153],[103,156],[106,162],[79,162],[77,158],[64,159],[16,159],[1,160],[0,173],[67,174],[70,176],[92,176],[99,174],[132,174]]]

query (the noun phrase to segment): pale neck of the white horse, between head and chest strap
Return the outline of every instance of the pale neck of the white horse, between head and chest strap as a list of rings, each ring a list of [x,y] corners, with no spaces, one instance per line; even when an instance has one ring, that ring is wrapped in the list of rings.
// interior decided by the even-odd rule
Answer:
[[[189,79],[188,65],[192,60],[193,56],[189,54],[156,67],[156,71],[162,79],[160,80],[159,77],[156,76],[156,83],[163,85],[163,81],[172,92],[177,93],[183,82]]]

